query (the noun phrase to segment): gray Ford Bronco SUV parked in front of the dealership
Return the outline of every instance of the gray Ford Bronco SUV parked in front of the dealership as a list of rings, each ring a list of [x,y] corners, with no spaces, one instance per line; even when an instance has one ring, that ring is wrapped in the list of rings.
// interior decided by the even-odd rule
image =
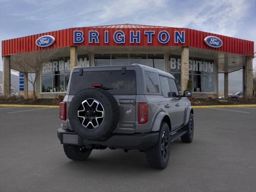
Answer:
[[[192,142],[193,109],[175,78],[140,64],[75,67],[60,103],[58,138],[66,156],[86,160],[92,149],[137,149],[166,168],[170,143]]]

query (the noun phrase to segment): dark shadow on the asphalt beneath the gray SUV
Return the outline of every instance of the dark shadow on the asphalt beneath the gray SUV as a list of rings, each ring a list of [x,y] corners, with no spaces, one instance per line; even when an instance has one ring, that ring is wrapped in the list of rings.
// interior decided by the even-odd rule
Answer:
[[[171,156],[169,159],[169,166],[165,170],[170,170],[170,161],[172,156],[175,156],[179,147],[182,147],[181,142],[174,142],[171,145]],[[154,169],[148,166],[146,162],[146,155],[144,152],[138,150],[130,150],[125,153],[121,149],[117,150],[93,150],[92,154],[86,161],[73,161],[66,160],[63,166],[69,172],[95,172],[98,174],[107,174],[109,172],[115,172],[115,174],[136,175],[162,172],[163,170]]]

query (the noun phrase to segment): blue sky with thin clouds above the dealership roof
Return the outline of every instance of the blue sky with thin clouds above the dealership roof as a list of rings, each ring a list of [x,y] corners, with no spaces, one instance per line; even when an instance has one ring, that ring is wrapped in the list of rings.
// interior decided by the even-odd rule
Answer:
[[[0,0],[0,2],[1,41],[72,27],[129,23],[184,27],[252,40],[256,50],[256,0]],[[0,70],[2,70],[2,60]]]

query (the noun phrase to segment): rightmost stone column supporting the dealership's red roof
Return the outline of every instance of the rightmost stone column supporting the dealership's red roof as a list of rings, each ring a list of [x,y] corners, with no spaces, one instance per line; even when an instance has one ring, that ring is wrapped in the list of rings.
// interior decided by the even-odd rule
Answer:
[[[253,86],[252,86],[252,59],[253,57],[246,57],[246,66],[244,71],[244,81],[245,81],[245,91],[244,91],[244,98],[251,99],[253,97]]]

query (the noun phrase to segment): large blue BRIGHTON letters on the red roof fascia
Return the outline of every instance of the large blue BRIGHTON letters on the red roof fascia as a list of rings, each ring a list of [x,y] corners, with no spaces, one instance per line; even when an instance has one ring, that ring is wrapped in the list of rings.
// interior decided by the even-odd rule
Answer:
[[[170,34],[167,31],[160,31],[156,34],[155,31],[144,31],[141,34],[140,31],[129,31],[129,42],[130,43],[140,43],[140,39],[142,36],[146,36],[148,44],[152,43],[153,35],[156,35],[158,41],[162,44],[166,44],[170,40]],[[86,35],[87,36],[87,35]],[[89,43],[99,43],[99,32],[98,31],[89,31],[88,33],[88,42]],[[82,31],[74,31],[74,43],[82,43],[84,42],[84,33]],[[122,30],[118,30],[113,34],[114,42],[118,44],[124,44],[126,42],[126,36]],[[104,43],[108,43],[109,40],[109,32],[104,31]],[[174,43],[185,43],[185,31],[174,31]]]

